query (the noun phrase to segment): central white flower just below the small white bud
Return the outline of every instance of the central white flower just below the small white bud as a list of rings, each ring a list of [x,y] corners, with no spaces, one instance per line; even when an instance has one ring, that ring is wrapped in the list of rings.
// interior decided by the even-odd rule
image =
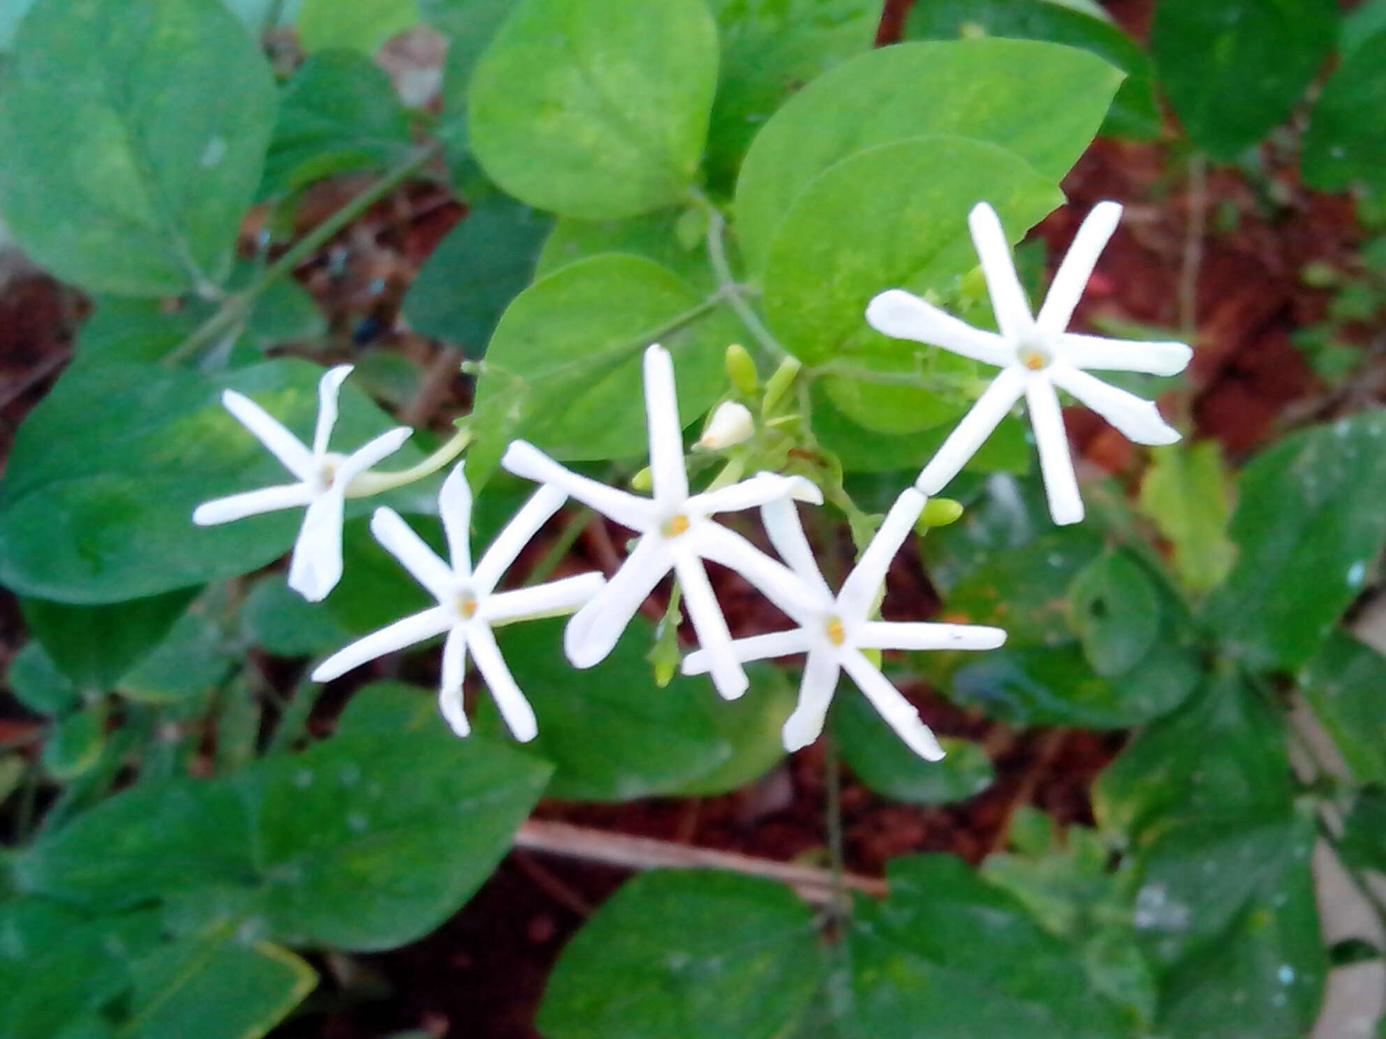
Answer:
[[[730,651],[732,636],[703,567],[712,560],[742,574],[769,561],[735,531],[715,522],[717,513],[753,508],[780,497],[822,501],[822,492],[802,477],[761,472],[740,483],[689,495],[683,468],[683,432],[674,389],[674,362],[656,345],[644,352],[644,410],[650,436],[653,497],[642,497],[579,477],[532,443],[516,441],[500,464],[518,477],[560,488],[589,508],[636,531],[639,542],[602,593],[568,622],[563,646],[575,668],[606,659],[640,603],[669,572],[678,575],[683,603],[707,652],[718,693],[735,700],[746,691],[746,672]]]

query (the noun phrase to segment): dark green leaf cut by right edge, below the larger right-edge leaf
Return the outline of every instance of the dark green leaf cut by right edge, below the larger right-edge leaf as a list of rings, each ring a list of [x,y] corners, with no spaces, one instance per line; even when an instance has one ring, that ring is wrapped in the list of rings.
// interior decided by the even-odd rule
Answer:
[[[1386,658],[1333,632],[1299,687],[1357,781],[1386,783]]]

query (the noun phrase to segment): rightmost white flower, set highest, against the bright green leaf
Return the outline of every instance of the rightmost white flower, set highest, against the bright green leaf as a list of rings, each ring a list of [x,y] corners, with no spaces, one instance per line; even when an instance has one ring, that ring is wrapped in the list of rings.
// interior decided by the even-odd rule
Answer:
[[[916,488],[926,495],[942,490],[1012,406],[1024,396],[1040,449],[1049,513],[1056,524],[1082,520],[1082,499],[1073,471],[1056,387],[1071,393],[1137,443],[1174,443],[1179,439],[1178,431],[1160,417],[1152,402],[1094,378],[1087,370],[1174,375],[1193,356],[1185,344],[1127,342],[1066,331],[1098,255],[1120,219],[1121,206],[1116,202],[1102,202],[1088,213],[1035,317],[1030,313],[1024,290],[1016,277],[1001,220],[990,205],[977,204],[967,222],[991,290],[999,335],[973,328],[898,288],[870,301],[866,320],[876,331],[941,346],[1001,368],[972,411],[919,474]]]

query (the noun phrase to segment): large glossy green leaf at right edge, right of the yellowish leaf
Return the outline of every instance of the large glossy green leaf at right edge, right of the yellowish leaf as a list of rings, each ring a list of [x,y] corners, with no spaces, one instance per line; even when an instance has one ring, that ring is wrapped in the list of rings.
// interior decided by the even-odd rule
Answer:
[[[1289,436],[1238,479],[1238,560],[1203,611],[1254,668],[1306,664],[1386,544],[1386,413]]]

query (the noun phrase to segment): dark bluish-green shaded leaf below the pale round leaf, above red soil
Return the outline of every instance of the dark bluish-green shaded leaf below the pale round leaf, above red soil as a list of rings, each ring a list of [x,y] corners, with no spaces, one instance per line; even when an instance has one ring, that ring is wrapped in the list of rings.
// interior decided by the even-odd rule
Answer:
[[[405,319],[423,335],[481,356],[500,314],[529,284],[550,226],[502,194],[481,199],[419,272],[405,296]]]

